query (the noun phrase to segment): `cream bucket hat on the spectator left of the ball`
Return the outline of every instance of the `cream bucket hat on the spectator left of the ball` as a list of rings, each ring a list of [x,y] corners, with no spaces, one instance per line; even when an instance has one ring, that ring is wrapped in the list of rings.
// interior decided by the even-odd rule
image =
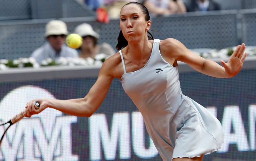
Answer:
[[[60,20],[49,21],[45,26],[45,34],[47,37],[49,35],[68,35],[67,25],[65,22]]]

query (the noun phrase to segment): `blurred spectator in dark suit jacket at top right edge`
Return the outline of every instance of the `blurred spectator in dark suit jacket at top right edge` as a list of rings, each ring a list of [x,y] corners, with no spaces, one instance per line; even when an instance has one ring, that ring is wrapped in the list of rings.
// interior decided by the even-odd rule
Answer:
[[[213,0],[189,0],[185,5],[188,12],[220,10],[220,4]]]

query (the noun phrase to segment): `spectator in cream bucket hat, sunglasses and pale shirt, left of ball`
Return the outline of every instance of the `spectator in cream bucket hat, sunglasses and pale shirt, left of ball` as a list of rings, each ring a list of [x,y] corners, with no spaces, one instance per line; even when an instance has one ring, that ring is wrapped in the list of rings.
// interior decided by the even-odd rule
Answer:
[[[78,57],[78,52],[75,49],[65,45],[67,35],[68,30],[65,22],[60,20],[48,22],[45,26],[44,34],[47,42],[40,48],[37,48],[31,57],[34,57],[39,64],[47,58]]]

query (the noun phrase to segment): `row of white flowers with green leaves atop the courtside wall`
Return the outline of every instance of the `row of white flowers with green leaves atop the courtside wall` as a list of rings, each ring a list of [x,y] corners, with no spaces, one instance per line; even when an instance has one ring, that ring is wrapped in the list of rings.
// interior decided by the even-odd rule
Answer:
[[[236,47],[232,48],[225,48],[221,50],[216,49],[191,49],[197,55],[200,55],[207,59],[213,58],[221,58],[225,59],[228,58],[235,50]],[[245,52],[247,52],[248,56],[256,56],[256,47],[255,46],[247,46]],[[7,59],[0,59],[0,70],[7,70],[9,68],[25,68],[25,67],[33,67],[33,68],[40,68],[41,66],[52,66],[52,65],[59,65],[59,66],[88,66],[88,65],[102,65],[102,63],[108,58],[109,56],[106,54],[98,54],[92,58],[65,58],[60,57],[57,60],[53,60],[48,58],[42,61],[41,64],[38,64],[36,60],[32,57],[29,58],[19,58],[15,60],[7,60]]]

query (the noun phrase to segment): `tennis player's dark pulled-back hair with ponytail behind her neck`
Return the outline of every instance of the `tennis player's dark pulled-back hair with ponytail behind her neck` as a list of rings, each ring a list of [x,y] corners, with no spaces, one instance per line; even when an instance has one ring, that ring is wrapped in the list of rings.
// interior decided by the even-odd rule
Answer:
[[[128,4],[137,4],[139,7],[140,7],[140,9],[141,9],[141,11],[144,13],[144,15],[145,15],[145,20],[146,21],[149,21],[150,20],[150,16],[149,16],[149,12],[148,12],[148,9],[143,5],[143,4],[140,4],[140,3],[138,3],[138,2],[130,2],[130,3],[127,3],[127,4],[125,4],[124,6],[126,6],[126,5],[128,5]],[[123,6],[123,7],[124,7]],[[122,8],[123,8],[122,7]],[[150,40],[153,40],[154,38],[153,38],[153,35],[148,31],[148,39],[150,39]],[[117,45],[116,45],[116,49],[117,50],[121,50],[122,48],[124,48],[124,47],[126,47],[127,45],[128,45],[128,41],[124,38],[124,35],[123,35],[123,33],[122,33],[122,30],[120,30],[120,32],[119,32],[119,35],[118,35],[118,38],[117,38]]]

